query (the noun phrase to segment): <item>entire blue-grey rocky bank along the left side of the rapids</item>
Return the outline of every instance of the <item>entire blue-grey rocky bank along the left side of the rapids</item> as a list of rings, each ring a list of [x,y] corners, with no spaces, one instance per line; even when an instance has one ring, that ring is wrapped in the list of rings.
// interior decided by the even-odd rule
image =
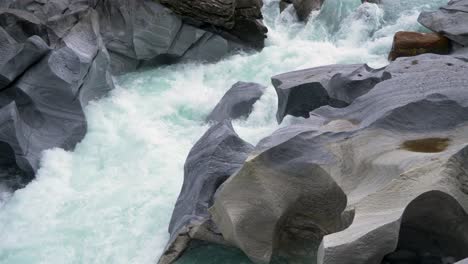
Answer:
[[[251,26],[243,19],[260,6],[236,2],[229,30]],[[111,74],[251,46],[228,35],[152,0],[0,1],[0,185],[28,183],[45,149],[73,149],[86,133],[83,107],[113,88]]]

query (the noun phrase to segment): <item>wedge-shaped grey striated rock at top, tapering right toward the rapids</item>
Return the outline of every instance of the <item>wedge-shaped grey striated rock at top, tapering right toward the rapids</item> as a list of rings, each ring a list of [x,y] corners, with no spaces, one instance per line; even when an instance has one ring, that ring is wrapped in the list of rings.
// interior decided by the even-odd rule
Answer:
[[[215,61],[240,47],[155,1],[100,1],[96,10],[115,74],[181,59]]]

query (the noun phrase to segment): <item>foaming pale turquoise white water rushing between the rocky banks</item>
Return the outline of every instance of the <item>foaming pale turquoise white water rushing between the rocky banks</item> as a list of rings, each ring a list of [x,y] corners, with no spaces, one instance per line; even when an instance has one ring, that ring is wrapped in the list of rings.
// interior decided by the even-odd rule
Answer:
[[[183,163],[207,127],[204,117],[236,81],[332,63],[383,66],[398,30],[421,30],[420,10],[446,0],[392,2],[385,12],[360,0],[326,0],[310,22],[265,0],[267,47],[216,64],[176,65],[121,78],[86,114],[89,132],[74,152],[46,151],[37,179],[0,204],[0,263],[154,263],[183,179]],[[288,10],[291,11],[291,10]],[[248,120],[256,143],[277,128],[272,87]]]

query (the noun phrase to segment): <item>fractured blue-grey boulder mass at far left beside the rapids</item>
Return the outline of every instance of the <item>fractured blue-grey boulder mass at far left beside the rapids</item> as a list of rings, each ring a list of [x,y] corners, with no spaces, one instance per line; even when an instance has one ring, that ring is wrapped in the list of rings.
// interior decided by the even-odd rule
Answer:
[[[40,35],[47,23],[35,15],[10,9],[0,13],[0,32],[8,43],[0,70],[2,164],[4,171],[22,175],[2,183],[11,189],[33,178],[43,150],[73,149],[86,133],[83,107],[113,87],[98,14],[83,10],[62,19],[60,28],[50,20],[47,34]]]

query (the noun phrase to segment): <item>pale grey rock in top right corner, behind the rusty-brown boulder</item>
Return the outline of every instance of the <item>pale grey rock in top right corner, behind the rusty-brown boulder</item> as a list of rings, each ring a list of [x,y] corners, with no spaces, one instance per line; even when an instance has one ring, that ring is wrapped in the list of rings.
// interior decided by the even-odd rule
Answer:
[[[419,23],[461,46],[468,46],[468,0],[451,0],[434,12],[422,12]]]

